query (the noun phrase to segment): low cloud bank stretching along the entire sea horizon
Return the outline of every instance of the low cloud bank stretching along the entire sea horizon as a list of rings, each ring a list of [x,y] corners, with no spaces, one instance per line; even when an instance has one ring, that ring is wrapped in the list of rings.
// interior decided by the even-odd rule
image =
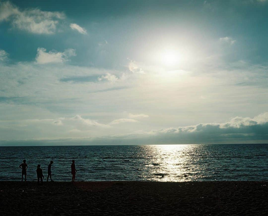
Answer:
[[[130,114],[133,116],[133,114]],[[137,114],[141,116],[144,114]],[[136,131],[128,134],[114,134],[107,136],[79,137],[83,132],[88,133],[89,127],[97,126],[109,129],[115,124],[131,123],[136,124],[135,119],[116,119],[110,123],[102,124],[95,120],[84,119],[80,115],[66,119],[28,119],[21,121],[20,124],[32,124],[34,127],[38,122],[46,125],[50,124],[61,130],[66,130],[76,121],[76,128],[69,132],[76,133],[76,137],[64,137],[58,139],[27,139],[27,140],[0,140],[0,145],[139,145],[139,144],[221,144],[221,143],[266,143],[268,139],[268,112],[259,114],[254,118],[235,117],[226,123],[206,123],[185,127],[165,128],[151,131]],[[1,127],[1,121],[0,121]],[[108,127],[108,128],[107,128]],[[82,130],[81,130],[82,129]],[[67,131],[65,131],[67,132]],[[81,133],[82,132],[82,133]],[[67,133],[66,133],[67,134]]]

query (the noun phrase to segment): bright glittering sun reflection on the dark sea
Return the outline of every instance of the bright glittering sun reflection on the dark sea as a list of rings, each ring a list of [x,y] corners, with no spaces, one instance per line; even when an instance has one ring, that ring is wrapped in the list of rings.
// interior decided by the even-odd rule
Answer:
[[[196,167],[192,164],[196,145],[143,146],[147,154],[143,177],[157,181],[190,181]],[[191,176],[191,178],[189,178]]]

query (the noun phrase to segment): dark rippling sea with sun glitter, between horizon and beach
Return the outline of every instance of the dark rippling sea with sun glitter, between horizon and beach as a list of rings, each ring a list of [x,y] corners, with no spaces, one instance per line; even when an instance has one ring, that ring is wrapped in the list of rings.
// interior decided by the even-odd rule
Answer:
[[[267,144],[21,146],[0,151],[0,180],[20,180],[23,159],[28,180],[36,179],[37,164],[46,177],[53,160],[52,178],[70,181],[72,159],[77,181],[268,180]]]

